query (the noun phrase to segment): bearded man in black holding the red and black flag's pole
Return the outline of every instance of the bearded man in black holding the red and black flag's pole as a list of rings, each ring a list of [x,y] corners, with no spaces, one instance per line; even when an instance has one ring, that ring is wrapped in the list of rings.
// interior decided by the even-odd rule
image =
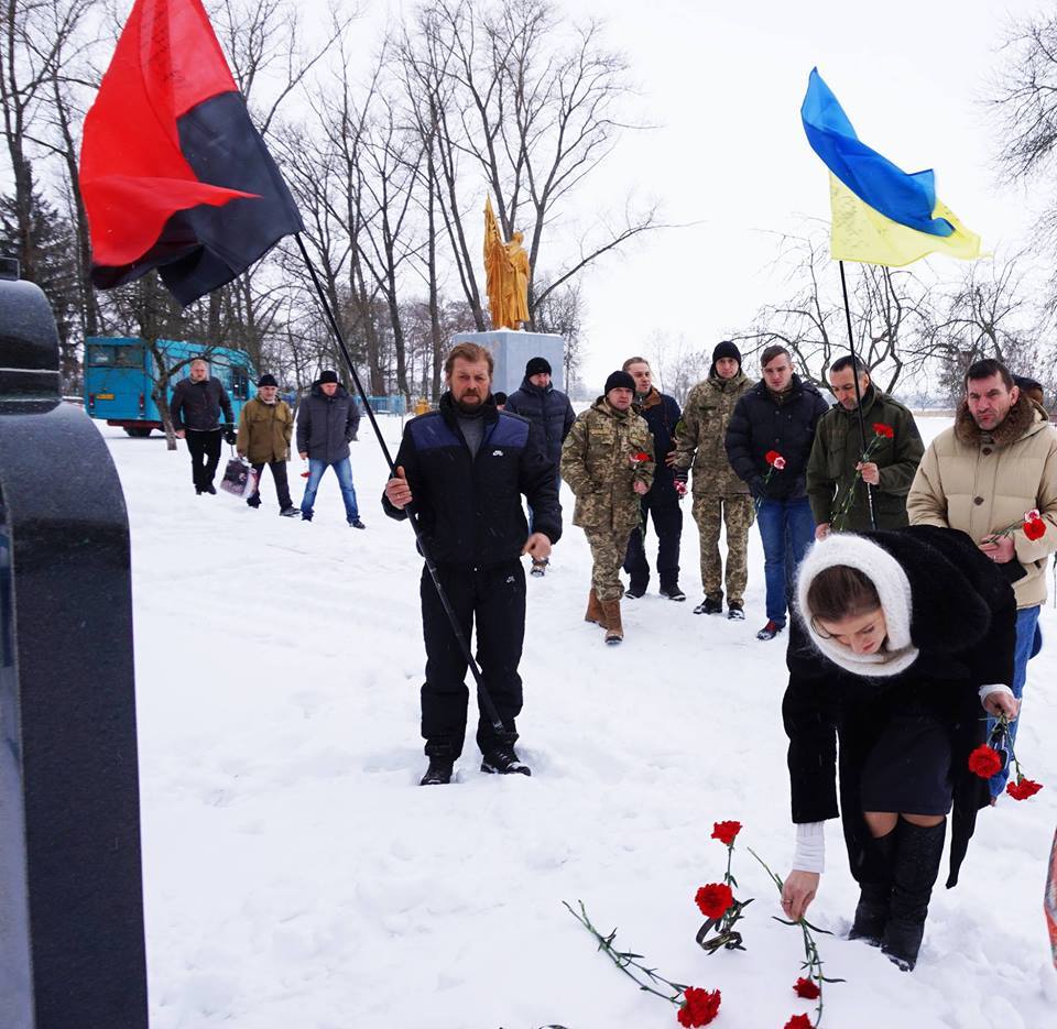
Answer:
[[[498,732],[481,712],[481,771],[530,775],[514,752],[525,634],[525,572],[519,558],[545,560],[562,536],[557,477],[532,437],[532,426],[495,409],[489,350],[458,343],[444,371],[448,388],[438,409],[404,428],[396,475],[385,484],[382,505],[393,518],[406,518],[411,505],[465,641],[477,624],[481,686],[503,730]],[[522,494],[532,508],[531,535]],[[421,596],[426,644],[422,735],[429,758],[422,785],[432,786],[451,781],[462,752],[469,661],[428,569],[423,570]]]

